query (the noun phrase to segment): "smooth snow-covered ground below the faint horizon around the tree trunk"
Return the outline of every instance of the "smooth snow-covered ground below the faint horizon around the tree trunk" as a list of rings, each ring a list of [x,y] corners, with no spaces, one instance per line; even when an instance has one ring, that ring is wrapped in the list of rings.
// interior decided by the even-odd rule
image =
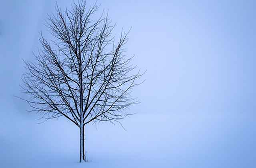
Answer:
[[[6,104],[8,106],[8,104]],[[1,119],[1,168],[254,168],[254,114],[136,114],[86,129],[88,163],[78,163],[79,135],[66,120],[36,124],[10,112]],[[18,116],[18,117],[17,117]],[[234,129],[235,128],[235,129]]]

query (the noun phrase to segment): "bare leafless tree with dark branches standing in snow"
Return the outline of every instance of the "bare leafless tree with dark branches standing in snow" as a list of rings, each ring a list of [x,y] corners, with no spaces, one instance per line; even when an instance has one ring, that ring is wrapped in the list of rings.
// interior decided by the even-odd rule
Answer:
[[[42,48],[35,61],[24,61],[23,98],[30,112],[42,118],[66,117],[80,130],[80,162],[86,161],[84,128],[86,124],[118,122],[131,115],[126,109],[138,103],[131,96],[143,73],[134,73],[132,57],[126,58],[128,38],[122,30],[115,42],[115,25],[108,15],[93,20],[98,6],[85,1],[72,4],[71,10],[56,6],[56,15],[48,15],[46,27],[52,40],[41,33]]]

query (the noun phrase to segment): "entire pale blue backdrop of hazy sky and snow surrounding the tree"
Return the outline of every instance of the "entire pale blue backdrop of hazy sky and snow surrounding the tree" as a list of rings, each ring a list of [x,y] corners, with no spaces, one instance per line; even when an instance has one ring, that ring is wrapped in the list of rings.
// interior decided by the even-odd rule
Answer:
[[[98,0],[116,34],[132,27],[127,54],[148,71],[134,90],[138,114],[123,120],[128,132],[88,126],[91,162],[82,165],[74,125],[36,124],[13,97],[54,3],[0,4],[0,167],[256,167],[256,1]]]

